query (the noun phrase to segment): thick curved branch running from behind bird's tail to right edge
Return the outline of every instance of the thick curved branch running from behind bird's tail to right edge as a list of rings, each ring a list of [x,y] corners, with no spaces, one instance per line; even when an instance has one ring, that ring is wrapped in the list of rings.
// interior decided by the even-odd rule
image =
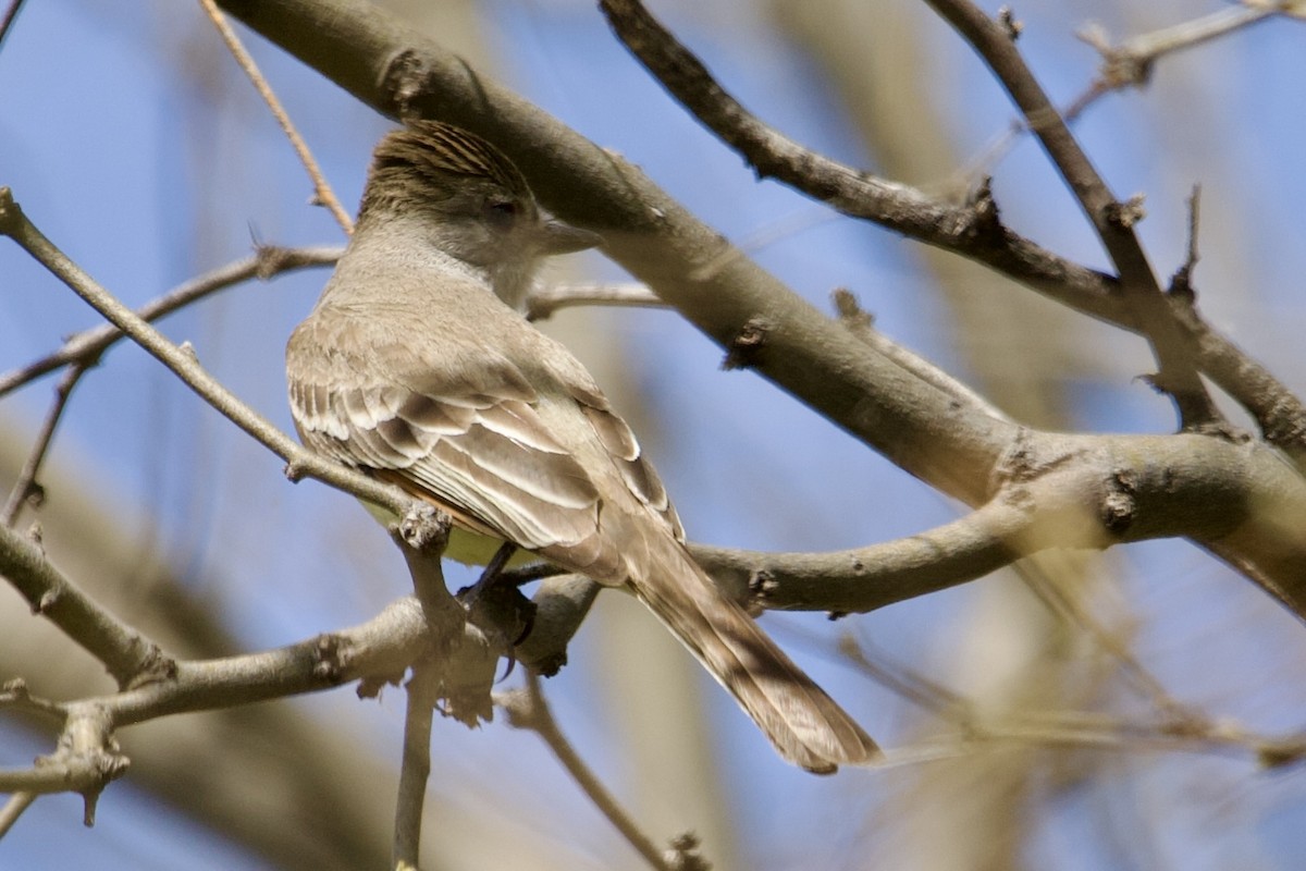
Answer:
[[[1187,537],[1306,619],[1306,482],[1255,443],[1216,436],[1027,431],[999,496],[934,530],[824,554],[695,545],[737,598],[767,609],[858,612],[964,584],[1051,547]],[[1256,569],[1233,554],[1255,554]]]

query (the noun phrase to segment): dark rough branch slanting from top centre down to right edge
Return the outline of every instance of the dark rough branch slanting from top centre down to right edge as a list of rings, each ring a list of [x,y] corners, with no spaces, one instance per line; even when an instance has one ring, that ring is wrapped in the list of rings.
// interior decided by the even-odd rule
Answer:
[[[1139,311],[1138,304],[1122,295],[1119,279],[1053,255],[1002,225],[995,204],[982,191],[970,204],[947,205],[908,185],[876,179],[798,146],[748,114],[639,3],[603,0],[601,7],[618,37],[654,77],[738,150],[760,176],[776,178],[844,214],[875,221],[986,264],[1076,311],[1124,329],[1149,336],[1157,329],[1165,332],[1166,324],[1175,324],[1178,319],[1174,329],[1181,332],[1181,341],[1166,345],[1178,349],[1171,356],[1195,355],[1203,370],[1256,418],[1266,439],[1288,451],[1306,470],[1306,406],[1268,370],[1211,329],[1195,311],[1169,317],[1153,317],[1157,312],[1148,306]],[[1008,30],[1002,22],[993,26],[1007,38]],[[1055,116],[1055,110],[1051,114]],[[1155,279],[1151,283],[1155,285]],[[1198,387],[1192,379],[1186,384]],[[1190,405],[1199,410],[1207,406],[1204,393],[1192,396]]]

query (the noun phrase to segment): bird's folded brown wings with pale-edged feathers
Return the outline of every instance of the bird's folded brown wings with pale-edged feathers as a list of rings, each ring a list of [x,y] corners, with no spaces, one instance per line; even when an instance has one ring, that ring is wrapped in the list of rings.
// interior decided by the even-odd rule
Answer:
[[[295,332],[287,375],[304,444],[435,503],[473,531],[624,580],[620,554],[599,534],[599,486],[573,456],[575,431],[559,432],[556,407],[546,420],[549,400],[490,343],[415,353],[407,338],[338,311]],[[593,426],[590,440],[613,454],[632,495],[674,520],[629,430],[597,389],[586,401],[576,402],[576,423]]]

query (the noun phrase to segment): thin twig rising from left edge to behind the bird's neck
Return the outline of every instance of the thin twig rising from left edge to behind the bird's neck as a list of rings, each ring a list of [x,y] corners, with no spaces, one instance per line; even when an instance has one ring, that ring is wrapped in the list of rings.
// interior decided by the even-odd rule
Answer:
[[[260,245],[253,256],[244,257],[212,272],[196,276],[189,281],[178,285],[162,296],[155,296],[136,309],[137,317],[145,321],[155,321],[165,315],[170,315],[191,303],[204,299],[219,290],[232,285],[260,278],[266,281],[273,276],[302,269],[304,266],[329,266],[340,260],[343,248],[336,245],[320,245],[313,248],[279,248],[277,245]],[[95,366],[104,351],[114,346],[124,333],[114,324],[101,324],[88,330],[71,336],[64,346],[54,354],[29,363],[17,370],[10,370],[0,375],[0,396],[14,390],[29,381],[52,372],[60,366],[81,363],[82,366]]]

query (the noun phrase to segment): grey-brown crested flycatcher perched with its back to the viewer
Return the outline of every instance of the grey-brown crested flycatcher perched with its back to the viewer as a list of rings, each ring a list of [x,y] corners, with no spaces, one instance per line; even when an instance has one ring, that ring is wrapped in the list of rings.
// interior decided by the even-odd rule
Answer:
[[[874,760],[875,742],[690,556],[589,372],[517,311],[543,257],[598,242],[542,215],[485,140],[430,121],[389,133],[286,349],[300,439],[449,515],[457,559],[511,542],[628,585],[786,760],[821,773]]]

